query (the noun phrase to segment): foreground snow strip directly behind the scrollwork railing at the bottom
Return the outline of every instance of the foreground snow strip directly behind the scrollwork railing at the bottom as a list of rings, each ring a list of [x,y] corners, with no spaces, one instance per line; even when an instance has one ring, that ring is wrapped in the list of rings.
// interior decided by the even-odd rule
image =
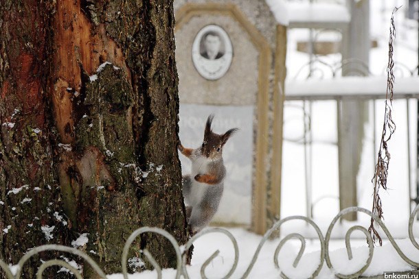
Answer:
[[[258,247],[261,236],[246,232],[239,228],[229,229],[238,241],[238,249],[240,251],[238,266],[231,278],[242,278],[245,274],[249,263]],[[289,278],[308,278],[320,263],[319,242],[308,241],[306,252],[300,260],[297,267],[293,267],[293,261],[299,250],[299,242],[290,241],[286,243],[278,256],[280,270],[275,269],[273,263],[273,255],[279,240],[267,241],[264,243],[256,264],[251,269],[248,278],[280,278],[280,272],[284,272]],[[401,250],[411,260],[419,261],[419,254],[413,245],[407,240],[397,241]],[[188,267],[190,278],[201,278],[201,265],[213,254],[216,249],[220,250],[220,255],[207,267],[205,274],[208,278],[223,278],[234,263],[233,245],[223,234],[206,234],[194,243],[194,256],[192,258],[192,266]],[[353,260],[348,260],[348,254],[342,241],[330,242],[330,258],[335,271],[331,271],[326,266],[326,262],[321,269],[317,278],[335,278],[333,272],[350,274],[361,269],[368,257],[368,248],[365,241],[352,241]],[[385,243],[383,247],[376,247],[374,257],[370,267],[363,274],[364,276],[373,276],[383,274],[384,271],[408,271],[413,268],[405,263],[400,256],[396,254],[396,250],[389,244]],[[164,269],[163,278],[174,278],[176,271],[174,269]],[[122,279],[122,275],[113,274],[108,276],[109,279]],[[151,279],[157,278],[155,271],[145,271],[141,274],[133,274],[128,276],[130,279]]]

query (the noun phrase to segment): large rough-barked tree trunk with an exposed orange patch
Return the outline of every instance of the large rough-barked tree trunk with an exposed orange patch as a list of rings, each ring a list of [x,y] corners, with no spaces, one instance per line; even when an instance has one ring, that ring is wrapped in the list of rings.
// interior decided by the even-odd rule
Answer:
[[[0,258],[87,232],[111,274],[140,226],[185,243],[172,1],[2,0],[0,14]],[[175,266],[165,239],[131,256],[144,247]]]

